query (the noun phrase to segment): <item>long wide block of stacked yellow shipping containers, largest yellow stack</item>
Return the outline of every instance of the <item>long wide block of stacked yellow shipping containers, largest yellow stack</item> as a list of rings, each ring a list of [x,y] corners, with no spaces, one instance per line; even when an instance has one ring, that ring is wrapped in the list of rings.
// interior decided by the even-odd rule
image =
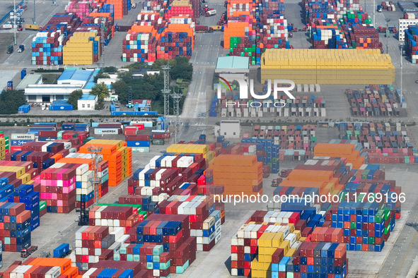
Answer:
[[[295,83],[392,84],[395,81],[390,56],[378,49],[267,49],[261,60],[262,82],[277,79],[278,75]],[[300,72],[305,69],[310,72]]]

